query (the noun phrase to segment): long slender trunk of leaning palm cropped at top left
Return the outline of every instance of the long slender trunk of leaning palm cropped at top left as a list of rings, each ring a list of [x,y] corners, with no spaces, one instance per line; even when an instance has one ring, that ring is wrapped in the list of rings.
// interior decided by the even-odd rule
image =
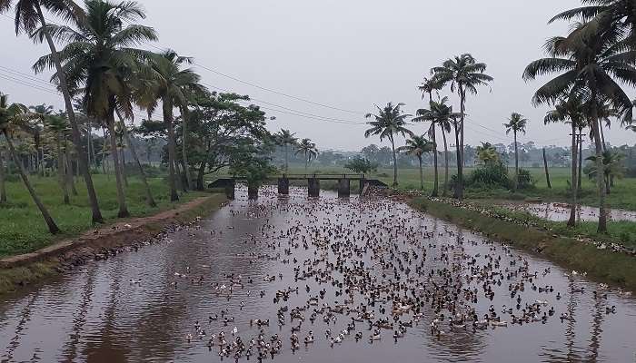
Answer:
[[[37,10],[37,15],[40,18],[40,23],[43,28],[46,29],[46,20],[45,15],[42,13],[42,8],[39,3],[35,3],[35,8]],[[75,113],[73,112],[73,103],[71,99],[71,93],[68,91],[68,83],[66,83],[66,75],[62,69],[62,63],[60,61],[59,54],[57,54],[57,50],[55,49],[55,43],[53,42],[53,38],[51,34],[47,30],[44,32],[46,37],[46,43],[51,49],[51,57],[55,63],[55,71],[57,75],[57,79],[59,81],[60,91],[64,95],[65,108],[66,108],[66,116],[68,117],[68,123],[71,124],[71,134],[73,136],[73,142],[75,143],[75,147],[77,148],[77,160],[80,172],[84,176],[84,182],[86,184],[86,191],[88,192],[88,201],[91,204],[91,214],[93,223],[104,223],[104,217],[102,217],[102,212],[99,210],[99,201],[97,201],[97,194],[94,190],[93,178],[91,177],[91,172],[88,169],[88,162],[86,159],[86,154],[84,152],[84,148],[82,147],[82,134],[79,132],[79,127],[77,126],[77,122],[75,121]]]

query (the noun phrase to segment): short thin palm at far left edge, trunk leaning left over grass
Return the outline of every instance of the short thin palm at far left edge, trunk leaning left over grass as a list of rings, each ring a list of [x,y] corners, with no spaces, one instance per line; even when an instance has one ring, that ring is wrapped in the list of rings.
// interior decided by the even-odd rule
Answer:
[[[11,103],[9,104],[8,96],[6,94],[0,93],[0,132],[5,135],[6,145],[9,149],[9,154],[13,159],[15,166],[17,167],[17,171],[20,174],[20,178],[22,182],[25,184],[26,190],[29,191],[31,195],[31,199],[34,201],[35,206],[42,214],[42,217],[45,219],[46,226],[48,227],[48,231],[51,234],[58,233],[60,229],[55,224],[53,217],[49,214],[46,209],[44,203],[40,201],[40,197],[37,196],[34,187],[29,182],[29,178],[26,176],[25,168],[22,165],[15,154],[14,143],[12,142],[12,133],[17,131],[28,119],[28,109],[24,104],[20,103]]]

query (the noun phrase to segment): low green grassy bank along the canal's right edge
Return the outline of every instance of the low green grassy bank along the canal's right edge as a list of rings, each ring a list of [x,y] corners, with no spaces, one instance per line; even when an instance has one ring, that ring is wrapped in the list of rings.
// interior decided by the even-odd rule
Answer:
[[[434,217],[552,260],[569,270],[585,271],[594,280],[636,290],[636,259],[630,254],[600,249],[595,243],[542,231],[510,217],[495,218],[488,213],[454,205],[452,201],[421,197],[411,199],[409,204]]]

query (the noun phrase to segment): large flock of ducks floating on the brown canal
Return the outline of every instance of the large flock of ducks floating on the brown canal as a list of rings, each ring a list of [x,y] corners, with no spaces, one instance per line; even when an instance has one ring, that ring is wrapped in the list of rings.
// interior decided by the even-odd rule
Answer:
[[[265,190],[260,201],[226,208],[252,228],[192,235],[219,243],[233,236],[230,257],[253,268],[211,278],[206,265],[184,265],[170,279],[171,289],[206,286],[221,301],[199,311],[183,337],[186,347],[206,347],[221,359],[276,360],[343,343],[399,345],[413,332],[443,342],[493,329],[567,325],[575,317],[561,299],[589,296],[613,315],[620,311],[605,302],[608,292],[630,295],[582,282],[582,271],[552,286],[551,275],[561,270],[538,268],[521,252],[448,224],[432,228],[424,214],[381,198],[307,201]]]

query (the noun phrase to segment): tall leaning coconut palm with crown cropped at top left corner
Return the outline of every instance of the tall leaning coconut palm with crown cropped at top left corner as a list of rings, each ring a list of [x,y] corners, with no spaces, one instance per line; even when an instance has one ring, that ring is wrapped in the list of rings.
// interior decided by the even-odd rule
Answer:
[[[0,14],[10,11],[13,3],[14,0],[0,0]],[[65,72],[62,72],[62,62],[54,42],[55,34],[50,29],[49,24],[46,23],[43,7],[53,15],[62,16],[65,20],[81,18],[84,16],[84,11],[81,7],[75,5],[73,0],[17,0],[15,2],[15,34],[24,32],[31,35],[38,26],[40,27],[39,36],[34,37],[34,39],[40,42],[46,41],[51,50],[49,65],[55,68],[53,78],[64,96],[65,111],[71,125],[73,142],[78,151],[83,151],[82,134],[75,122],[72,91],[69,88],[69,83],[67,83]],[[86,154],[84,152],[77,152],[77,154],[78,167],[84,177],[88,201],[91,205],[92,221],[93,223],[103,223],[104,218],[99,210],[99,201],[94,191],[93,178],[88,167]]]

